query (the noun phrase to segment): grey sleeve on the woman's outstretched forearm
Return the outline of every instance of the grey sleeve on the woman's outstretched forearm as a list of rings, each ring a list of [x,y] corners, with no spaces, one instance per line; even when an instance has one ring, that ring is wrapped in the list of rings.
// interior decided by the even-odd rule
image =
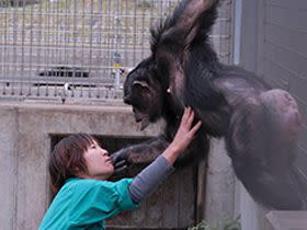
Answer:
[[[174,171],[172,164],[159,156],[152,163],[145,168],[129,185],[130,196],[134,203],[141,202]]]

